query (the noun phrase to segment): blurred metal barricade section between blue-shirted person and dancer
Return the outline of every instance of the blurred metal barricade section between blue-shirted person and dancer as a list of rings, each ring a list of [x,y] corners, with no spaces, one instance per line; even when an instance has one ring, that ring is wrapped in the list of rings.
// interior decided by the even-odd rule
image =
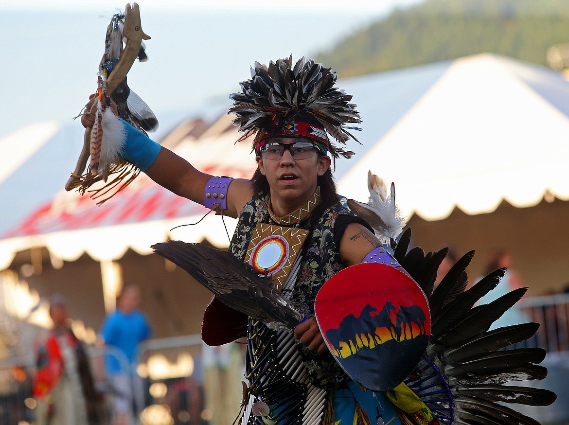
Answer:
[[[228,425],[240,410],[244,346],[209,347],[199,335],[139,346],[137,400],[142,425]]]

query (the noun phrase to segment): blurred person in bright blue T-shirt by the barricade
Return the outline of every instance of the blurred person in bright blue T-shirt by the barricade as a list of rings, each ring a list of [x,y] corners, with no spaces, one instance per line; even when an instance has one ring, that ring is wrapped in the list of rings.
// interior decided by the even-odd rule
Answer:
[[[110,348],[105,356],[105,372],[113,387],[113,425],[130,422],[137,348],[152,335],[146,316],[137,308],[139,302],[139,288],[125,286],[117,299],[117,310],[106,316],[101,326],[101,340]]]

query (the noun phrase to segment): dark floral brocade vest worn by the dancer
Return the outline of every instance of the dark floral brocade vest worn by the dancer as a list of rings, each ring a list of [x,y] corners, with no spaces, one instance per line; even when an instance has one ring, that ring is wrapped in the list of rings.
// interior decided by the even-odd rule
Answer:
[[[251,198],[241,211],[239,222],[228,251],[244,259],[249,241],[259,222],[269,221],[269,195],[258,194]],[[334,225],[340,215],[356,216],[339,202],[332,205],[320,217],[308,217],[300,223],[309,229],[303,247],[303,258],[291,301],[299,307],[305,317],[314,316],[314,301],[320,287],[344,268],[339,247],[334,240]],[[331,354],[313,353],[305,346],[299,348],[304,367],[312,385],[334,389],[349,380]]]

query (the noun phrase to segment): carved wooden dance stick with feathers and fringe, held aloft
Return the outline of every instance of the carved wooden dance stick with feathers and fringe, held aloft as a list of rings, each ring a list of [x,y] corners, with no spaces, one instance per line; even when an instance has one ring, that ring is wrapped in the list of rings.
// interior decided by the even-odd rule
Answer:
[[[77,188],[83,194],[92,184],[103,180],[106,184],[94,191],[96,196],[93,198],[108,195],[113,189],[116,191],[99,201],[102,203],[126,187],[139,174],[137,167],[119,156],[126,139],[125,129],[106,106],[110,97],[117,104],[119,117],[137,129],[144,132],[158,128],[158,120],[149,106],[126,84],[126,75],[134,60],[137,57],[140,61],[147,59],[143,39],[150,39],[150,36],[142,31],[138,5],[134,3],[131,7],[127,4],[125,14],[114,15],[107,28],[105,53],[99,65],[97,93],[93,105],[96,109],[95,122],[92,129],[85,129],[83,150],[71,178],[65,184],[67,191]],[[89,156],[88,170],[83,174]],[[107,182],[112,174],[118,175]]]

